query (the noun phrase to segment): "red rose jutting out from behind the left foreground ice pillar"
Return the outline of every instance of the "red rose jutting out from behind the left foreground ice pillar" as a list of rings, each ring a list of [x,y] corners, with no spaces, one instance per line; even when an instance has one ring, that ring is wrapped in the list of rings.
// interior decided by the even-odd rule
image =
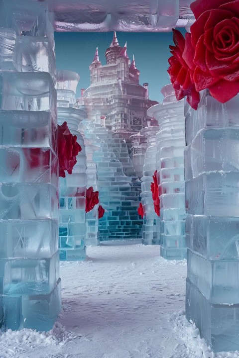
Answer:
[[[77,143],[77,136],[73,136],[64,122],[57,126],[57,150],[59,159],[59,176],[65,178],[65,171],[72,174],[72,169],[77,163],[76,156],[81,151]]]

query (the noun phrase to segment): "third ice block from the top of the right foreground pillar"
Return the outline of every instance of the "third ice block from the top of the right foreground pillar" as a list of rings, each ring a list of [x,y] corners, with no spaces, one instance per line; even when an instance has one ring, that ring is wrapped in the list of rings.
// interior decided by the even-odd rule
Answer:
[[[185,182],[192,215],[239,216],[239,172],[202,174]]]

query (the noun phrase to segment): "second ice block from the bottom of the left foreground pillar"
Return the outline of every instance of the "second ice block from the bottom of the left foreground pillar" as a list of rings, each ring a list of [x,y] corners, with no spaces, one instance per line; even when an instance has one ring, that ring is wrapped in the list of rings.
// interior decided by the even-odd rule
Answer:
[[[47,294],[59,277],[59,252],[48,259],[0,259],[0,294]]]

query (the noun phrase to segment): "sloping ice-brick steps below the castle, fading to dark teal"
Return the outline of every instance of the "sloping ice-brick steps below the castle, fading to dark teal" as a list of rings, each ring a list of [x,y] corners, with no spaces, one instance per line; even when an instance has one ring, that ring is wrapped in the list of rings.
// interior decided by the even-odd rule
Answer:
[[[125,142],[108,128],[89,120],[81,122],[79,130],[96,149],[93,161],[97,164],[99,198],[106,209],[99,220],[100,240],[140,238],[142,220],[137,213],[140,181],[135,175],[124,174],[130,168],[123,168],[124,163],[129,163]]]

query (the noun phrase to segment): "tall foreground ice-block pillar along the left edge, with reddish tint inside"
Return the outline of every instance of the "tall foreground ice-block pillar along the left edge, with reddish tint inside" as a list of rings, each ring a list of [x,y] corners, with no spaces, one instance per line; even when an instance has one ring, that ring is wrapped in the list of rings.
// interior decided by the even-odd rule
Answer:
[[[53,26],[0,2],[0,329],[52,328],[61,306]]]

